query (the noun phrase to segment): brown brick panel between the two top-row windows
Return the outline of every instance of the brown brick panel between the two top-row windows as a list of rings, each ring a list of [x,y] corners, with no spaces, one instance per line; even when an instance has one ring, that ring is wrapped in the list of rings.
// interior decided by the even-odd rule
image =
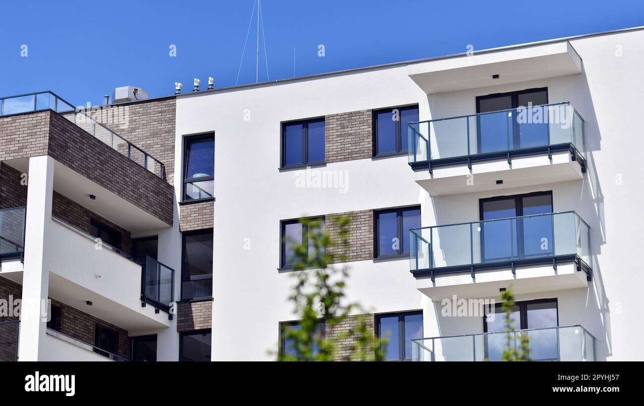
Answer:
[[[327,163],[371,158],[374,153],[372,123],[371,110],[325,116]]]

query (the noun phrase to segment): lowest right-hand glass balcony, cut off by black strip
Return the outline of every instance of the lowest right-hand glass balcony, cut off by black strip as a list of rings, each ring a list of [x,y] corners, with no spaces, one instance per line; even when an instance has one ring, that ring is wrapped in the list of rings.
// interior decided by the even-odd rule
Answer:
[[[412,340],[412,361],[500,361],[509,340],[529,338],[533,361],[594,361],[595,338],[582,326],[502,331]]]

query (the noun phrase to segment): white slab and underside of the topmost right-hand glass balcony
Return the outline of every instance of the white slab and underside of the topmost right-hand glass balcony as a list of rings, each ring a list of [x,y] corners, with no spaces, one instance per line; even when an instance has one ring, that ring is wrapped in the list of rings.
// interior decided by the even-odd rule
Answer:
[[[466,163],[433,167],[414,172],[414,180],[430,196],[501,190],[514,187],[542,185],[583,179],[580,164],[573,161],[569,151],[553,152],[552,160],[547,153],[513,157],[511,164],[506,158],[473,162],[472,169]],[[502,185],[497,185],[502,180]]]

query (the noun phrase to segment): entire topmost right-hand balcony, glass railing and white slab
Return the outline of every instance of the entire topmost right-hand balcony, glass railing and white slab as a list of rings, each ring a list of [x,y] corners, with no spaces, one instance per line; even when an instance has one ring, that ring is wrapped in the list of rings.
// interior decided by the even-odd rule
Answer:
[[[408,125],[409,165],[431,196],[583,178],[583,118],[569,102]],[[500,183],[499,183],[500,181]]]

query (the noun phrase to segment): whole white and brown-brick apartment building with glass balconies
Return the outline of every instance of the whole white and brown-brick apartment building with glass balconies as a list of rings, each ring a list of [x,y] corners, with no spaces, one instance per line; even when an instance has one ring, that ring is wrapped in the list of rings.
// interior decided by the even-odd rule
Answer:
[[[4,98],[0,299],[51,309],[3,313],[0,358],[274,359],[297,328],[285,237],[352,213],[348,298],[388,359],[500,358],[507,289],[533,359],[643,359],[643,44],[632,28],[128,93],[122,128],[53,93]]]

